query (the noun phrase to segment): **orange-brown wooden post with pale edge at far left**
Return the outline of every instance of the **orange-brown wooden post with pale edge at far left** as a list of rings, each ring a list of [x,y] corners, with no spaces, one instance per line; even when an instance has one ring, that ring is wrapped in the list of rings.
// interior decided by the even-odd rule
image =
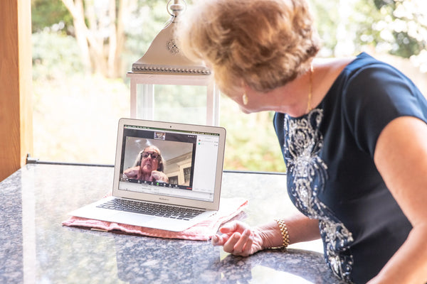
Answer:
[[[31,0],[0,5],[0,181],[33,148]]]

